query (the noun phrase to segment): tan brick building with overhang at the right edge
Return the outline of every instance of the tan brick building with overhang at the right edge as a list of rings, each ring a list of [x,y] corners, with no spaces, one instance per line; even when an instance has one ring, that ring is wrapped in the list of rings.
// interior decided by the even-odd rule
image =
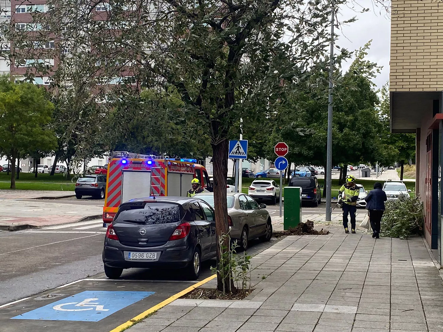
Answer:
[[[427,243],[443,263],[443,6],[392,0],[391,131],[416,133],[416,193]]]

